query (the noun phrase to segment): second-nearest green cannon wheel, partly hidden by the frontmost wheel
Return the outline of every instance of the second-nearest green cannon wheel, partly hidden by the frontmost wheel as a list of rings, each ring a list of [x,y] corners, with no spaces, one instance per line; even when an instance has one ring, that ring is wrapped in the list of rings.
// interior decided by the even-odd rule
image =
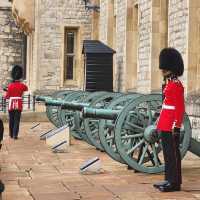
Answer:
[[[107,107],[107,109],[122,110],[130,101],[136,99],[139,96],[141,96],[141,94],[138,93],[121,96],[113,100],[111,104]],[[115,145],[114,127],[115,127],[115,120],[109,120],[109,119],[100,120],[99,139],[106,153],[114,160],[124,164],[124,160],[121,158]]]

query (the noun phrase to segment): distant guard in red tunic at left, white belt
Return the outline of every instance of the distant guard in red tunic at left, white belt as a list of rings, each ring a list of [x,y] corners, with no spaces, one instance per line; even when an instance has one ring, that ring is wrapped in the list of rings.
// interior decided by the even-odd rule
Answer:
[[[23,69],[15,65],[11,71],[13,81],[8,85],[5,98],[9,99],[9,135],[13,139],[18,138],[19,124],[22,112],[22,95],[28,90],[28,87],[20,82],[23,76]]]

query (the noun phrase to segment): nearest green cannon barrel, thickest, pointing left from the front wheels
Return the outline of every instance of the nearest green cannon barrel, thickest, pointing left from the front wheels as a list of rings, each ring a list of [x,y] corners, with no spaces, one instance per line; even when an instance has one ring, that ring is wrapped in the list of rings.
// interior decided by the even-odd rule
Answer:
[[[111,110],[111,109],[101,109],[101,108],[89,108],[84,107],[82,110],[82,116],[84,118],[97,118],[97,119],[116,119],[119,110]]]

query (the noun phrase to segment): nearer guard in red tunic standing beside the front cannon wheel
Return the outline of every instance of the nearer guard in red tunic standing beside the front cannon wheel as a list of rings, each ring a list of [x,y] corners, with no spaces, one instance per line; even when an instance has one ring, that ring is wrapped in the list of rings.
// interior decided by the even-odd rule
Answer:
[[[181,54],[174,48],[163,49],[160,52],[159,68],[165,81],[163,104],[157,122],[165,161],[165,181],[154,184],[154,187],[162,192],[179,191],[182,183],[180,128],[185,112],[184,88],[178,80],[184,72]]]

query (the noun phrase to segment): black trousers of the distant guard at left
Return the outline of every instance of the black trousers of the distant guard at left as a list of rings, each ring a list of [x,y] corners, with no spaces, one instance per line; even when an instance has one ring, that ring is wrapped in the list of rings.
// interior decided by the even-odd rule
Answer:
[[[14,138],[18,137],[20,118],[21,118],[20,110],[9,111],[9,134],[10,134],[10,137],[14,137]]]

